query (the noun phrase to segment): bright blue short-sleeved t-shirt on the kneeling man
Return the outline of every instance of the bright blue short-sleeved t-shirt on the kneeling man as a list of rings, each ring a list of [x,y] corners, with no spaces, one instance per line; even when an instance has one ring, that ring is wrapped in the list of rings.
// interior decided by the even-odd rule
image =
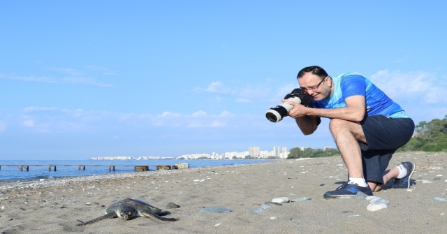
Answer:
[[[383,115],[392,118],[409,118],[400,105],[393,102],[385,93],[367,78],[357,73],[344,73],[332,78],[334,92],[330,98],[314,101],[315,108],[343,108],[346,98],[362,95],[366,99],[367,115]]]

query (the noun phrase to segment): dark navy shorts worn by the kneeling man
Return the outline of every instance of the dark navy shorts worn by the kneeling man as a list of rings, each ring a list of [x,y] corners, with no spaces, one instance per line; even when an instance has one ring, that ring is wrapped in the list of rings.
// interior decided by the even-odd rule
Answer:
[[[383,184],[383,172],[394,152],[413,136],[414,122],[410,118],[373,115],[365,117],[360,125],[367,141],[367,144],[359,142],[365,180]]]

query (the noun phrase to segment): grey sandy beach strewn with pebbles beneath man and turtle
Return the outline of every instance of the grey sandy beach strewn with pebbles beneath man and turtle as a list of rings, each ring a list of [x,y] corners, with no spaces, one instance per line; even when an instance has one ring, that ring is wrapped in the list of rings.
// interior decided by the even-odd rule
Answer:
[[[339,156],[278,160],[243,166],[160,170],[45,181],[0,182],[1,233],[446,233],[447,154],[403,152],[416,163],[414,184],[374,196],[388,208],[368,211],[368,200],[324,199],[347,177]],[[388,184],[389,185],[389,184]],[[389,186],[388,186],[389,187]],[[272,198],[309,197],[274,205]],[[116,200],[138,198],[178,221],[105,219]],[[168,203],[179,205],[167,208]],[[264,205],[264,206],[263,206]],[[263,208],[261,208],[263,206]],[[231,212],[200,212],[221,207]],[[255,212],[257,211],[257,212]]]

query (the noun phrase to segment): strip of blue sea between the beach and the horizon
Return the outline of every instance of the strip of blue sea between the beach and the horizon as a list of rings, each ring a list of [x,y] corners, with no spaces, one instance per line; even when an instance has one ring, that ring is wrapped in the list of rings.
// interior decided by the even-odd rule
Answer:
[[[117,165],[135,165],[149,166],[149,170],[156,170],[156,165],[175,165],[176,163],[188,163],[189,168],[199,168],[205,166],[226,166],[226,165],[242,165],[250,163],[267,163],[272,160],[0,160],[0,181],[15,180],[40,180],[52,179],[57,177],[77,177],[86,175],[103,175],[110,173],[130,173],[135,171],[134,166],[117,166]],[[20,171],[20,166],[5,165],[41,165],[29,166],[29,170],[24,167]],[[49,165],[59,165],[54,171],[48,171]],[[75,165],[75,166],[63,166]],[[78,165],[85,165],[85,170],[78,170]],[[104,165],[104,166],[89,166]],[[110,165],[115,165],[115,171],[109,172]]]

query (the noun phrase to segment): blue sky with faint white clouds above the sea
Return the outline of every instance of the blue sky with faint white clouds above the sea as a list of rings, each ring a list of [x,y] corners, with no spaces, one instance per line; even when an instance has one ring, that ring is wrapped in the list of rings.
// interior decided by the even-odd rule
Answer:
[[[418,124],[447,115],[444,1],[6,1],[0,159],[335,147],[265,111],[301,68],[354,71]]]

